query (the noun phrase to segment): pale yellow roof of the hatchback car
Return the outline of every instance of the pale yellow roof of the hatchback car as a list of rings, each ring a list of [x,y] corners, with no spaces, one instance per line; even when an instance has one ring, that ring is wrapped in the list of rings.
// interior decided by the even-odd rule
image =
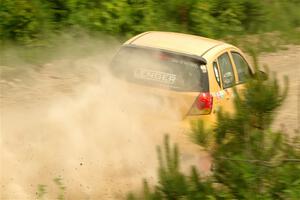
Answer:
[[[203,56],[210,49],[226,43],[183,33],[150,31],[131,38],[125,44]]]

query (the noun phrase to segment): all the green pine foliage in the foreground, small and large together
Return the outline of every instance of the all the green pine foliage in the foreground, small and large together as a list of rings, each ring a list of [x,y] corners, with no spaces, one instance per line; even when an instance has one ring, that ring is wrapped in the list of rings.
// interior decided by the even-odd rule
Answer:
[[[193,124],[194,141],[213,158],[209,177],[199,176],[196,167],[182,174],[178,150],[166,139],[165,159],[158,152],[159,182],[153,191],[146,185],[138,199],[299,199],[300,139],[270,129],[287,88],[287,78],[280,88],[275,75],[264,80],[257,73],[242,92],[235,91],[235,112],[218,113],[213,131]]]

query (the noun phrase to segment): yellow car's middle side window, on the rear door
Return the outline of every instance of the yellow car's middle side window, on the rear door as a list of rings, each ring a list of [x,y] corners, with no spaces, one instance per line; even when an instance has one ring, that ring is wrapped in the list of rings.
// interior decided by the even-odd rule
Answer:
[[[221,70],[223,88],[232,87],[235,84],[234,72],[228,53],[223,53],[218,57]]]

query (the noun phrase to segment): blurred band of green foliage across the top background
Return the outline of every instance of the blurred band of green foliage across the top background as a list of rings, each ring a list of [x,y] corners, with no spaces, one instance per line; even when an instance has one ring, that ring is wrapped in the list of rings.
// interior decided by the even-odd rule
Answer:
[[[2,0],[0,36],[32,45],[80,29],[125,37],[148,30],[208,37],[286,32],[300,26],[299,7],[297,0]]]

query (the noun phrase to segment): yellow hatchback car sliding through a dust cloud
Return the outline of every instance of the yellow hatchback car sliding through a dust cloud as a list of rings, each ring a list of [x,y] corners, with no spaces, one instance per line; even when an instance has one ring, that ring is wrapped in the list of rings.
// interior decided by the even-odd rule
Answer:
[[[231,111],[233,87],[242,89],[254,69],[243,52],[222,41],[145,32],[125,42],[111,71],[132,87],[163,97],[182,120],[214,122],[220,107]]]

